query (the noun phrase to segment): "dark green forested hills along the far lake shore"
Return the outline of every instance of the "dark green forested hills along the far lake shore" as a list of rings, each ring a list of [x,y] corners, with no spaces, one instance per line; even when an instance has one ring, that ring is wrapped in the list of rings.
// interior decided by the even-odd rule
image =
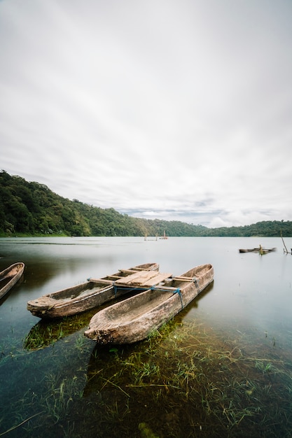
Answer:
[[[176,220],[132,218],[114,209],[70,201],[46,185],[0,172],[0,235],[66,236],[292,236],[291,221],[207,228]]]

